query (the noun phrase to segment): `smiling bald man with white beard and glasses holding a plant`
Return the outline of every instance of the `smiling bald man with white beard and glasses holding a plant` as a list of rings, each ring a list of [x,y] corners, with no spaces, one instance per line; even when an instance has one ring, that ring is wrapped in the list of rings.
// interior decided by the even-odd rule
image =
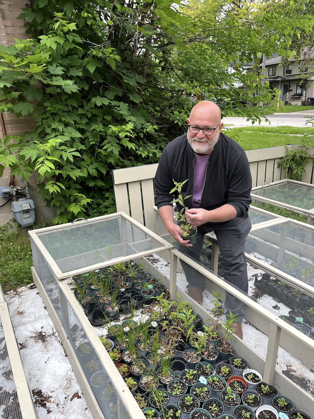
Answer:
[[[211,101],[198,102],[188,118],[188,131],[172,140],[162,152],[154,178],[155,204],[179,250],[201,261],[204,235],[214,231],[223,260],[224,279],[247,294],[245,240],[251,228],[247,211],[251,203],[252,179],[245,151],[237,142],[221,134],[221,112]],[[180,226],[173,220],[170,194],[176,182],[188,181],[181,194],[189,208],[188,222],[197,227],[196,243],[180,236]],[[182,209],[178,205],[179,211]],[[188,295],[203,303],[204,278],[181,261],[188,281]],[[227,293],[226,313],[237,315],[236,334],[242,339],[244,305]]]

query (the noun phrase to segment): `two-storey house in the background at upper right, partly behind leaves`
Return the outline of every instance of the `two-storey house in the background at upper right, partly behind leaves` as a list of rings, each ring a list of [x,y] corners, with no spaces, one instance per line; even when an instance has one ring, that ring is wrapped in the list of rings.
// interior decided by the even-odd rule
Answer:
[[[265,62],[265,77],[270,89],[280,90],[279,101],[283,104],[301,105],[303,100],[314,98],[314,72],[308,72],[302,61],[291,60],[287,65],[279,66],[281,57],[275,56]],[[262,67],[262,64],[260,65]],[[300,79],[300,75],[305,80]],[[278,96],[274,97],[277,101]]]

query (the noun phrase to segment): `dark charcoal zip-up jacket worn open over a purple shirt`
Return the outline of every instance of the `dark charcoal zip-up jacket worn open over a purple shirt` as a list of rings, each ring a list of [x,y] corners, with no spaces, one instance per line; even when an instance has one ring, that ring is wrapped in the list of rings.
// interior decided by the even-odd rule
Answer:
[[[193,208],[194,159],[186,134],[175,138],[165,147],[154,178],[155,205],[158,209],[172,205],[170,202],[178,197],[177,191],[169,194],[175,186],[173,179],[176,182],[188,179],[181,194],[183,198],[191,195],[185,200],[185,204],[188,208]],[[208,160],[199,208],[211,210],[229,204],[236,209],[237,217],[244,217],[252,201],[251,189],[250,166],[245,151],[232,138],[220,134]],[[179,205],[178,207],[181,209]]]

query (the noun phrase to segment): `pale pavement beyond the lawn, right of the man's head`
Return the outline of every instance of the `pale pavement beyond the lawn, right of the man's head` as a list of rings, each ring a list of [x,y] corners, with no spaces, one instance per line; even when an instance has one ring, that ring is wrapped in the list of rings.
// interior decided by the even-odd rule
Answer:
[[[262,118],[261,126],[266,127],[269,126],[269,122],[265,121],[265,118],[269,119],[270,126],[278,127],[281,125],[290,125],[291,127],[305,127],[306,120],[309,117],[314,117],[314,110],[309,111],[299,111],[299,112],[290,112],[290,113],[276,113],[273,115],[266,115]],[[222,119],[225,125],[234,126],[234,127],[251,127],[252,122],[247,121],[247,118],[242,118],[240,116],[228,116]],[[255,126],[257,126],[258,122],[255,122]],[[307,127],[311,127],[310,124]]]

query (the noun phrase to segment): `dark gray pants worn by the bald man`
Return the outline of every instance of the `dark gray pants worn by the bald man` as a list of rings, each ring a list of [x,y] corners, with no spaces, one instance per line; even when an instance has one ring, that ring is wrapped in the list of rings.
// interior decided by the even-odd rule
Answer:
[[[201,250],[204,242],[204,235],[214,231],[216,234],[219,250],[222,257],[224,268],[224,279],[231,285],[235,285],[245,294],[248,291],[247,265],[245,261],[245,241],[251,229],[251,221],[248,215],[237,217],[221,223],[206,223],[197,228],[196,243],[192,247],[179,245],[180,252],[191,259],[201,261]],[[190,287],[204,289],[204,277],[190,265],[180,260],[186,279]],[[225,309],[228,314],[237,315],[238,323],[241,323],[244,317],[244,304],[234,295],[226,293]]]

